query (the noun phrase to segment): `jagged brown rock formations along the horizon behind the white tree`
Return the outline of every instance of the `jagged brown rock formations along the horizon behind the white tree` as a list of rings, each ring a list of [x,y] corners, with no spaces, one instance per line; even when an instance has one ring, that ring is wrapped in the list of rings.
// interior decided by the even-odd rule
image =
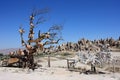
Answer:
[[[67,42],[62,45],[59,45],[56,48],[58,51],[109,51],[109,50],[120,50],[120,39],[100,39],[100,40],[88,40],[82,38],[76,43]]]

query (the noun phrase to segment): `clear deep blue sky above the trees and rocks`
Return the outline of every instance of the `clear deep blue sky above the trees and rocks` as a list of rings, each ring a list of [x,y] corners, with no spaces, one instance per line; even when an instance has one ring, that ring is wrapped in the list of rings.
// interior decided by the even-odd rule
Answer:
[[[18,29],[22,24],[27,37],[33,8],[50,9],[36,31],[62,24],[62,42],[120,36],[119,0],[0,0],[0,49],[21,47]]]

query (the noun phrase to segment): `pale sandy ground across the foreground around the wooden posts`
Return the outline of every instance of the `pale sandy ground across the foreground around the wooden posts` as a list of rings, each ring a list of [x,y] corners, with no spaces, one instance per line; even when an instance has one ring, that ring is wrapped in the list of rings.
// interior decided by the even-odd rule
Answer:
[[[51,67],[47,67],[47,61],[40,63],[42,67],[35,71],[21,68],[0,67],[0,80],[120,80],[120,73],[106,74],[80,74],[80,72],[68,71],[67,61],[53,59]],[[87,69],[90,66],[77,64]]]

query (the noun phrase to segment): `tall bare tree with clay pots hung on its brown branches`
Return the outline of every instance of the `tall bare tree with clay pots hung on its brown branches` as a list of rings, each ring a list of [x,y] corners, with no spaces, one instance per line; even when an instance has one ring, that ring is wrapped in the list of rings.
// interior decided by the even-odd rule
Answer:
[[[45,45],[48,45],[48,41],[49,44],[57,44],[59,42],[58,38],[58,32],[60,32],[61,30],[61,26],[59,25],[54,25],[52,27],[50,27],[50,29],[48,29],[47,32],[45,33],[40,33],[40,30],[38,32],[38,38],[34,38],[34,28],[45,21],[44,17],[39,16],[40,14],[45,14],[48,12],[48,9],[43,9],[43,10],[34,10],[32,12],[32,14],[30,15],[30,19],[29,19],[29,33],[28,33],[28,40],[27,42],[25,42],[25,40],[23,39],[23,34],[25,32],[24,29],[20,28],[19,29],[19,33],[20,33],[20,37],[21,37],[21,44],[22,46],[25,46],[26,50],[28,50],[29,55],[28,55],[28,59],[27,59],[27,63],[28,63],[28,67],[32,68],[34,70],[34,53],[37,52],[37,49],[40,49],[41,51],[43,50]],[[35,20],[37,18],[37,20]],[[54,32],[57,31],[57,32]],[[55,41],[55,37],[58,38],[57,41]],[[43,43],[43,40],[48,40],[46,41],[46,43]],[[32,45],[32,43],[35,43],[34,45]]]

